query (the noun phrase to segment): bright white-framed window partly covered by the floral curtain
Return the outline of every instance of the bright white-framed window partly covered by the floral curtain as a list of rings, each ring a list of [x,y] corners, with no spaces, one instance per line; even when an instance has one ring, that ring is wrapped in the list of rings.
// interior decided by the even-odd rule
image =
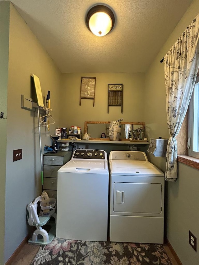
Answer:
[[[199,158],[199,76],[189,103],[188,155]]]

